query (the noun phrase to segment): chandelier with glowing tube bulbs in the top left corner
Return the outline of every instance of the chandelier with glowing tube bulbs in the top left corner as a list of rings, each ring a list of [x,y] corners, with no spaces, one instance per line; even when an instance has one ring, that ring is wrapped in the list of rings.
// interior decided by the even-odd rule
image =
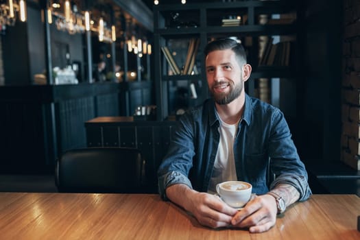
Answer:
[[[25,0],[9,0],[8,4],[0,5],[0,25],[14,26],[16,23],[16,15],[20,21],[26,21],[26,3]]]

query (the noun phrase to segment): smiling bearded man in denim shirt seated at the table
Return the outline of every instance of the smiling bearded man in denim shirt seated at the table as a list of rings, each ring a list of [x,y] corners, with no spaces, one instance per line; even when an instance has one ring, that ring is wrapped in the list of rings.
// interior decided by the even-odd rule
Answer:
[[[285,206],[309,198],[307,171],[283,113],[245,94],[252,68],[241,44],[215,40],[204,53],[213,99],[180,119],[158,169],[160,195],[204,226],[267,231]],[[213,194],[217,183],[228,180],[250,182],[256,193],[241,211]]]

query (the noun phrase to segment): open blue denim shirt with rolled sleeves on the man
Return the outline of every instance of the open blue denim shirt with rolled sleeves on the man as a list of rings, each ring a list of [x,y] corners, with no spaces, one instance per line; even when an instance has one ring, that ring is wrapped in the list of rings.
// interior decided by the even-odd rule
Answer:
[[[159,193],[172,184],[187,184],[206,192],[219,145],[219,119],[215,102],[188,110],[180,119],[169,150],[158,169]],[[300,201],[311,195],[307,171],[291,140],[283,112],[245,95],[245,109],[234,143],[238,180],[250,182],[252,192],[267,193],[279,183],[291,184]],[[272,176],[276,176],[275,180]]]

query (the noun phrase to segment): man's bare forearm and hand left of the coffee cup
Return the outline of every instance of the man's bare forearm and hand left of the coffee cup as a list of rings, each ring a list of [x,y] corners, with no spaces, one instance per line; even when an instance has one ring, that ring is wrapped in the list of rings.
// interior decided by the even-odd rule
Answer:
[[[230,226],[237,213],[216,195],[197,192],[185,184],[173,184],[166,189],[166,194],[171,202],[192,213],[200,224],[211,228]]]

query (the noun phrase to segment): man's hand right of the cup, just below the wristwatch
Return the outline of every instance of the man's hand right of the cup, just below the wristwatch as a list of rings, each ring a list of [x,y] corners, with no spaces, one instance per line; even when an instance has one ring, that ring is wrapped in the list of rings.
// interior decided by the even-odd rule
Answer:
[[[250,232],[265,232],[276,223],[278,208],[272,195],[254,197],[232,218],[231,224],[239,228],[249,228]]]

